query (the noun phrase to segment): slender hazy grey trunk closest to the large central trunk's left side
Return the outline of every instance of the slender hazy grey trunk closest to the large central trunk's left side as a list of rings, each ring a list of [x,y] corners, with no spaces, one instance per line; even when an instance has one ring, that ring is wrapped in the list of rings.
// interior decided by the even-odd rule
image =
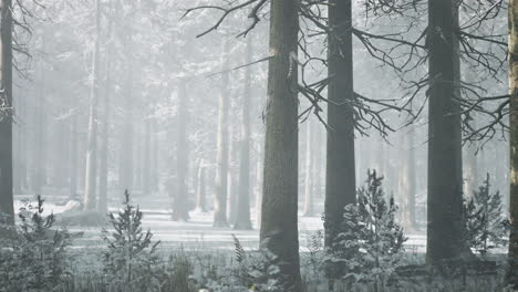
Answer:
[[[252,60],[252,38],[247,38],[246,64]],[[239,159],[239,194],[237,198],[237,218],[234,229],[252,229],[250,220],[250,100],[251,100],[251,72],[250,66],[245,69],[245,88],[242,92],[242,124],[241,148]]]

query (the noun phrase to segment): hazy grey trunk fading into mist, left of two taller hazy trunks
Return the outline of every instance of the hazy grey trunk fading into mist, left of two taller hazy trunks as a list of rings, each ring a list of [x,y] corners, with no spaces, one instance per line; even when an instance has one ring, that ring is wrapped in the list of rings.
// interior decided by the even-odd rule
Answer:
[[[188,113],[187,83],[183,81],[178,90],[178,132],[176,146],[176,192],[173,199],[173,220],[189,220],[187,169],[188,169],[188,145],[187,145],[187,119]]]

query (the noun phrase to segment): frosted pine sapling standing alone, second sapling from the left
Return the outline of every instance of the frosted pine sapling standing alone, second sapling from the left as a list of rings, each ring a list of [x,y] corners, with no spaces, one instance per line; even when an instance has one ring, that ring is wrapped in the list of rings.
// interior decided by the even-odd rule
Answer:
[[[152,242],[153,233],[142,229],[143,213],[130,201],[130,192],[118,215],[108,213],[113,232],[103,230],[107,243],[104,273],[108,291],[155,291],[159,286],[160,241]]]

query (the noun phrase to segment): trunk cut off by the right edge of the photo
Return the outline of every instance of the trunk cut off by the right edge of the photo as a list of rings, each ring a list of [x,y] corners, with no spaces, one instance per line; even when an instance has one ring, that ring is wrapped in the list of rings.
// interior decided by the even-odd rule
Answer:
[[[507,282],[518,289],[518,0],[509,0],[509,264]]]

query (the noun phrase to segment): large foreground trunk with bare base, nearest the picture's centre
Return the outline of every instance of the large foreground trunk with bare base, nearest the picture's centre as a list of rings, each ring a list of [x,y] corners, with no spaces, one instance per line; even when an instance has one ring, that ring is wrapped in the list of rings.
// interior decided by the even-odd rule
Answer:
[[[277,255],[281,290],[302,290],[298,211],[298,0],[270,2],[260,248]]]

